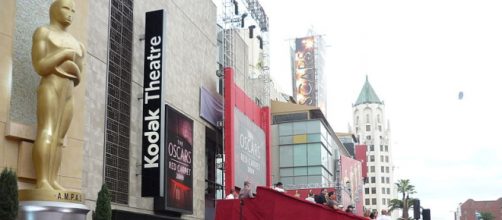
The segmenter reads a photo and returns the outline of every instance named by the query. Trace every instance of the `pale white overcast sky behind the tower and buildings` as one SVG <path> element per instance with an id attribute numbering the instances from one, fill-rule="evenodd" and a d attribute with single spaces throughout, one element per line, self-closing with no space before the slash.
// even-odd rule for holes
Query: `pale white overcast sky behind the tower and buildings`
<path id="1" fill-rule="evenodd" d="M 367 75 L 385 102 L 395 179 L 410 179 L 432 219 L 502 197 L 502 1 L 260 2 L 275 85 L 291 93 L 291 39 L 322 35 L 331 126 L 348 130 Z"/>

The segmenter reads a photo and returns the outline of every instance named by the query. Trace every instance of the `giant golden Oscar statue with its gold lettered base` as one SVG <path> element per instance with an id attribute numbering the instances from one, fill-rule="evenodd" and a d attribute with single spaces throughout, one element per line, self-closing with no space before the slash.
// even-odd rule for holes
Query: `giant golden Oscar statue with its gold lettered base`
<path id="1" fill-rule="evenodd" d="M 84 46 L 67 28 L 75 3 L 51 4 L 50 24 L 33 34 L 31 57 L 41 76 L 37 90 L 37 135 L 33 147 L 36 189 L 20 191 L 20 200 L 82 202 L 80 193 L 67 192 L 57 182 L 64 137 L 73 117 L 73 89 L 80 82 Z"/>

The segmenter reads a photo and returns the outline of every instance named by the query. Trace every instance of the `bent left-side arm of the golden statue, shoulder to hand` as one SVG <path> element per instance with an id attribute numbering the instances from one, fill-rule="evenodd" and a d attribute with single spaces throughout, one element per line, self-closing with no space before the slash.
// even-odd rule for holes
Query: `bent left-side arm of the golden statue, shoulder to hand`
<path id="1" fill-rule="evenodd" d="M 47 35 L 50 30 L 47 27 L 39 27 L 33 34 L 31 59 L 35 71 L 40 76 L 46 76 L 55 72 L 55 68 L 66 60 L 74 60 L 76 51 L 72 49 L 60 49 L 47 54 Z"/>

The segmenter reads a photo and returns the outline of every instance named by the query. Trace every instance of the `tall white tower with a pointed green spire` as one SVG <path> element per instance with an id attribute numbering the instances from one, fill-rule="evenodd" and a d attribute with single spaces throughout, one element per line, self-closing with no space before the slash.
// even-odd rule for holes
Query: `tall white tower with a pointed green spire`
<path id="1" fill-rule="evenodd" d="M 353 131 L 359 142 L 367 145 L 368 183 L 364 185 L 364 206 L 371 210 L 388 209 L 396 198 L 394 166 L 390 142 L 390 126 L 385 121 L 385 104 L 381 101 L 368 76 L 352 106 Z"/>

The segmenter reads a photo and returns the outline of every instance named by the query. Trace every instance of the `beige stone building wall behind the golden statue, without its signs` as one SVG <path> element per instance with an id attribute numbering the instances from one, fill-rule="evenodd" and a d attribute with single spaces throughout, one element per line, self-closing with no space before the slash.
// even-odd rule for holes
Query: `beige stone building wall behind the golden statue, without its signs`
<path id="1" fill-rule="evenodd" d="M 36 89 L 31 37 L 49 23 L 51 0 L 2 0 L 0 6 L 0 169 L 14 169 L 19 187 L 34 187 L 31 152 L 35 139 Z M 75 110 L 59 174 L 60 183 L 82 191 L 93 210 L 101 185 L 112 207 L 135 219 L 154 213 L 154 199 L 141 196 L 142 97 L 145 12 L 165 10 L 163 102 L 193 120 L 193 213 L 160 215 L 203 219 L 207 133 L 200 90 L 217 94 L 216 5 L 211 0 L 75 0 L 69 32 L 87 48 Z M 211 201 L 210 201 L 211 202 Z M 116 213 L 115 213 L 116 214 Z M 90 219 L 90 215 L 88 215 Z"/>

